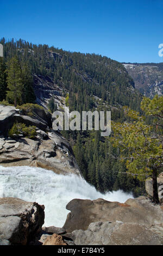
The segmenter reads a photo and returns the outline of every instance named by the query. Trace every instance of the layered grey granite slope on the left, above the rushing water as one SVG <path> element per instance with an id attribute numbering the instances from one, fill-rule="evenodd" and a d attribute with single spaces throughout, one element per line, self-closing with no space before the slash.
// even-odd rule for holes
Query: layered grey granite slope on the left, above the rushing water
<path id="1" fill-rule="evenodd" d="M 0 165 L 34 166 L 59 174 L 81 175 L 70 144 L 51 129 L 51 114 L 43 109 L 33 109 L 33 117 L 21 113 L 15 107 L 0 105 Z M 8 130 L 15 122 L 36 126 L 35 138 L 21 134 L 8 138 Z"/>

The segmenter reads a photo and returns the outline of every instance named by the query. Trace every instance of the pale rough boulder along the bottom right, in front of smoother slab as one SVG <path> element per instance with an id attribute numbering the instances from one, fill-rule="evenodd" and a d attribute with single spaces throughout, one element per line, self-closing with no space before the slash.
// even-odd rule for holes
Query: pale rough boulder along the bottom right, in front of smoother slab
<path id="1" fill-rule="evenodd" d="M 162 237 L 143 224 L 94 222 L 87 230 L 74 230 L 65 236 L 75 245 L 161 245 Z"/>

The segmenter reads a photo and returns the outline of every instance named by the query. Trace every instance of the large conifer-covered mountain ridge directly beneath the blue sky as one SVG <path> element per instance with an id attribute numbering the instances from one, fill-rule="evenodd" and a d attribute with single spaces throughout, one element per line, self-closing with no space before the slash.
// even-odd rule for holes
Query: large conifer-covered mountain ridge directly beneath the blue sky
<path id="1" fill-rule="evenodd" d="M 4 45 L 5 61 L 16 54 L 21 62 L 28 63 L 34 79 L 35 75 L 37 78 L 48 76 L 54 90 L 60 87 L 65 92 L 69 91 L 72 109 L 92 109 L 93 95 L 111 106 L 128 105 L 134 109 L 139 106 L 141 95 L 135 90 L 133 79 L 124 66 L 115 60 L 97 54 L 34 45 L 22 39 L 5 41 L 3 38 L 0 42 Z"/>

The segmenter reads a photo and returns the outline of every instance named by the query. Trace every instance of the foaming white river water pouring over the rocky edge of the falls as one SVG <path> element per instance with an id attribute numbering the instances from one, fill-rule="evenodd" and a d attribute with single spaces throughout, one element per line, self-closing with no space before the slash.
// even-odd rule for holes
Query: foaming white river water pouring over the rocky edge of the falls
<path id="1" fill-rule="evenodd" d="M 124 203 L 131 194 L 122 191 L 102 194 L 77 175 L 60 175 L 35 167 L 0 166 L 0 197 L 17 197 L 45 205 L 45 226 L 62 227 L 68 210 L 66 204 L 74 198 L 97 199 Z"/>

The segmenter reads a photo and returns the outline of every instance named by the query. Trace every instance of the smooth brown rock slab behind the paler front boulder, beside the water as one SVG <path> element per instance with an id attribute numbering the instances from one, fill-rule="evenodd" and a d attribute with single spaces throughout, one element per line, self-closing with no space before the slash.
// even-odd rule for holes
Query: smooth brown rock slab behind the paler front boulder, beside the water
<path id="1" fill-rule="evenodd" d="M 92 222 L 132 222 L 143 224 L 147 228 L 155 227 L 163 232 L 163 212 L 160 205 L 153 205 L 147 197 L 128 199 L 124 204 L 104 199 L 73 199 L 67 206 L 71 212 L 67 215 L 63 228 L 67 233 L 73 230 L 87 230 Z M 163 233 L 162 233 L 163 234 Z"/>

